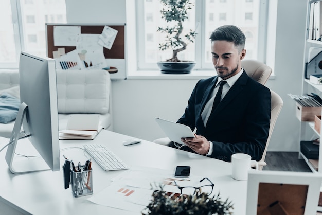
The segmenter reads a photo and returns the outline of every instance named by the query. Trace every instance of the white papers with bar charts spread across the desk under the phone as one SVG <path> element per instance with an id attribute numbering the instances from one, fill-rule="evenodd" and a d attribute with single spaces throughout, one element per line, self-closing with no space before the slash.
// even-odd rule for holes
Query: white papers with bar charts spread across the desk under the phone
<path id="1" fill-rule="evenodd" d="M 174 181 L 180 186 L 198 186 L 200 179 L 201 176 L 195 175 L 174 178 L 173 172 L 157 168 L 131 169 L 113 178 L 109 187 L 88 200 L 99 205 L 140 212 L 149 204 L 153 190 L 160 190 L 160 186 L 168 196 L 178 199 L 181 191 Z"/>

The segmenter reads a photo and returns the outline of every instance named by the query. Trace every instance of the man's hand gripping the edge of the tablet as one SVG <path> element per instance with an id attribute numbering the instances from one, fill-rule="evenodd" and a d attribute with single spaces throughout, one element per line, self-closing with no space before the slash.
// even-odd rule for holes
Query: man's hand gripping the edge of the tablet
<path id="1" fill-rule="evenodd" d="M 196 134 L 194 134 L 194 136 L 195 138 L 181 138 L 181 141 L 183 141 L 189 148 L 191 148 L 196 153 L 201 155 L 207 154 L 209 152 L 210 144 L 206 137 Z"/>

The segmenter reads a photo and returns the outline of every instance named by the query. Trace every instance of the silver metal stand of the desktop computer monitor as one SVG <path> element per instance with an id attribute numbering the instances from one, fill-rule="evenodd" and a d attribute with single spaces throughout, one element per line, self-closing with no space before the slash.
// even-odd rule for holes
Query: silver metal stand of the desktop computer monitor
<path id="1" fill-rule="evenodd" d="M 28 111 L 27 104 L 24 102 L 21 103 L 17 117 L 14 122 L 13 130 L 9 141 L 10 144 L 8 146 L 7 153 L 6 153 L 6 162 L 9 166 L 10 171 L 13 174 L 50 170 L 49 166 L 42 158 L 16 160 L 16 157 L 14 156 L 18 140 L 29 136 L 24 132 L 21 132 L 22 122 L 26 117 L 27 111 Z"/>

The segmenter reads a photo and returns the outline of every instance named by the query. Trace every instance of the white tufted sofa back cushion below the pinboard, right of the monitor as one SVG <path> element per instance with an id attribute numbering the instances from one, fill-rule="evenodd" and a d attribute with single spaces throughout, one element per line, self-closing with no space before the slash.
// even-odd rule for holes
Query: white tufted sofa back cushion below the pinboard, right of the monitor
<path id="1" fill-rule="evenodd" d="M 106 114 L 110 87 L 106 70 L 57 70 L 58 113 Z"/>

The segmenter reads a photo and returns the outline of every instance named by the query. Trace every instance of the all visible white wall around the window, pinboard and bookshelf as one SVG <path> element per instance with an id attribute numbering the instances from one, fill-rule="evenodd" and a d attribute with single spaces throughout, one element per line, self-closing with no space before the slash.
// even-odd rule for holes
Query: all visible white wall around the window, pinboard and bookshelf
<path id="1" fill-rule="evenodd" d="M 272 0 L 277 1 L 277 0 Z M 95 2 L 95 4 L 93 3 Z M 68 23 L 125 23 L 126 0 L 68 0 Z M 275 79 L 266 86 L 284 100 L 270 151 L 298 151 L 299 121 L 287 94 L 301 93 L 306 0 L 277 2 Z M 290 7 L 292 6 L 292 7 Z M 131 52 L 131 55 L 135 53 Z M 131 57 L 128 53 L 128 58 Z M 128 69 L 133 66 L 128 65 Z M 216 73 L 214 73 L 215 75 Z M 164 137 L 155 117 L 177 120 L 198 80 L 127 79 L 112 81 L 114 131 L 146 140 Z"/>

